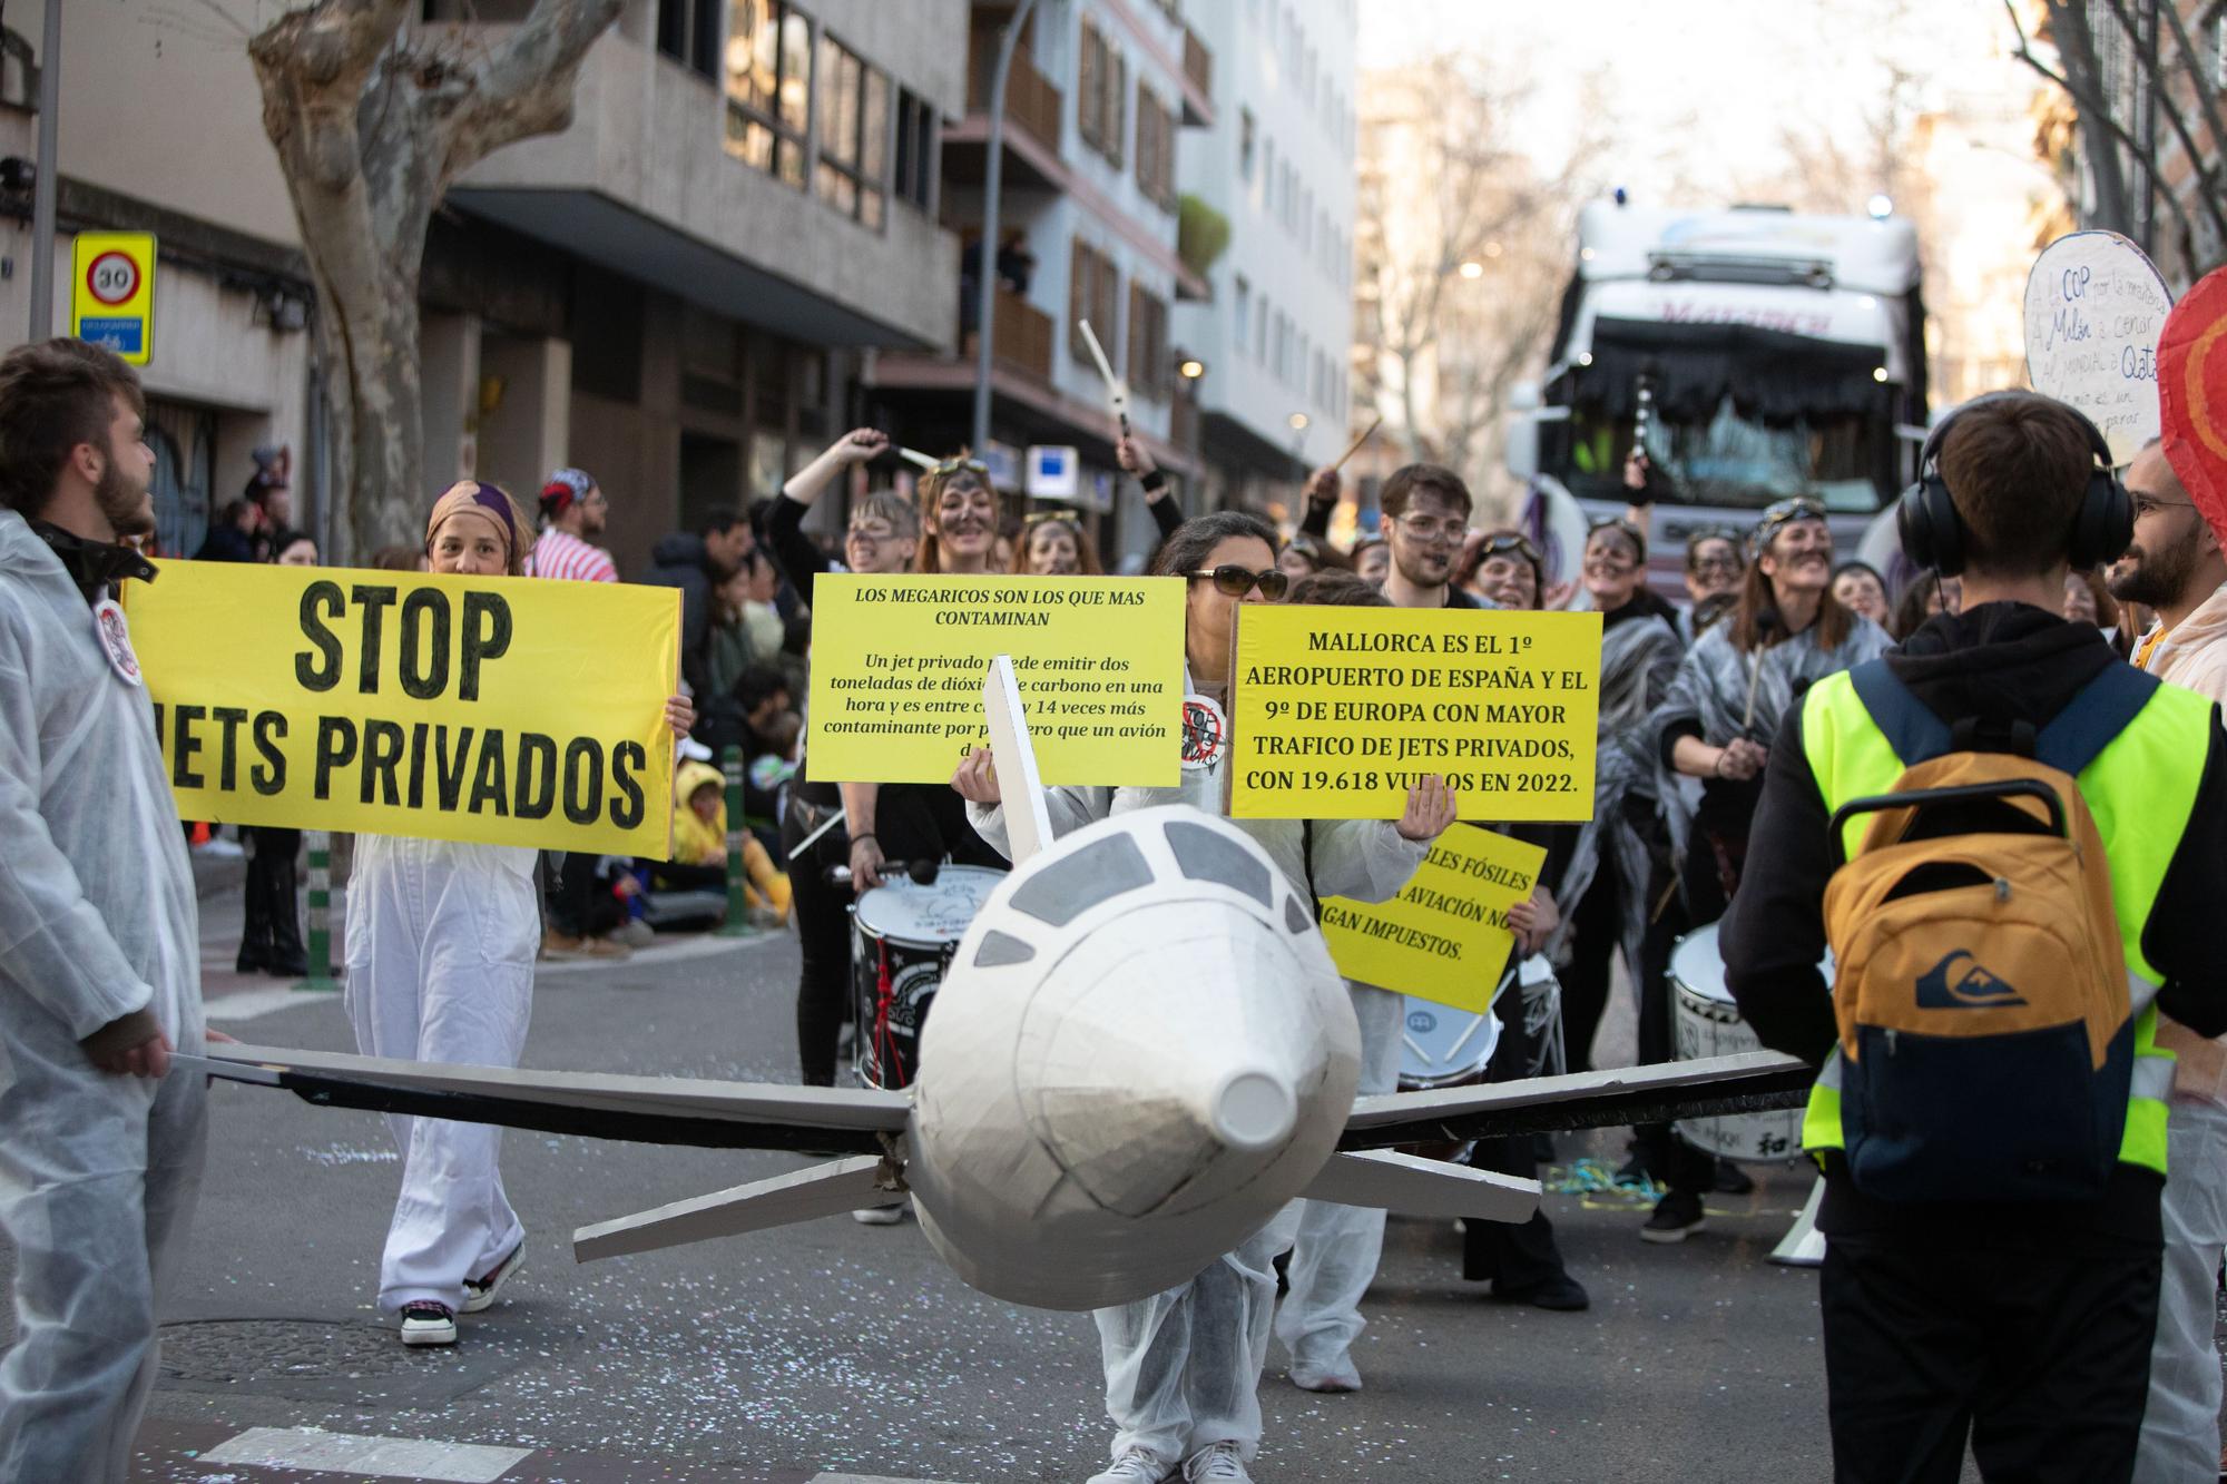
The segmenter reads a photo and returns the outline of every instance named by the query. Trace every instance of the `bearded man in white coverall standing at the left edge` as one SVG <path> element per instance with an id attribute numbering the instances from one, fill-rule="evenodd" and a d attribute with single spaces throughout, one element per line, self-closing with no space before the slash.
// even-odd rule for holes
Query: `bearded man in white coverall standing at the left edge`
<path id="1" fill-rule="evenodd" d="M 194 869 L 114 606 L 151 568 L 138 379 L 82 341 L 0 359 L 0 1480 L 122 1484 L 200 1185 Z"/>

